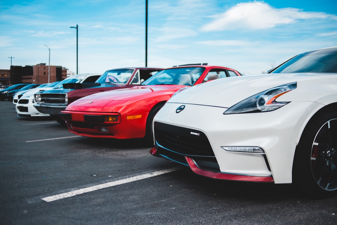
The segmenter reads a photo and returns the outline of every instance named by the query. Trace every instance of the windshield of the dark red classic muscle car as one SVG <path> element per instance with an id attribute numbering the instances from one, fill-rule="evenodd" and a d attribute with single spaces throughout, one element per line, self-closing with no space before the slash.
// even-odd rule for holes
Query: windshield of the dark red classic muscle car
<path id="1" fill-rule="evenodd" d="M 106 71 L 95 83 L 126 84 L 134 69 L 114 69 Z"/>

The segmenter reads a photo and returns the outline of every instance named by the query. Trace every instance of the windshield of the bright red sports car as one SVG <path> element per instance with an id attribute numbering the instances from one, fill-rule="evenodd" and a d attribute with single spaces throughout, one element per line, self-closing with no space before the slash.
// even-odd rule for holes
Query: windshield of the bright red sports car
<path id="1" fill-rule="evenodd" d="M 192 86 L 204 71 L 204 67 L 164 69 L 144 81 L 141 85 L 175 84 Z"/>

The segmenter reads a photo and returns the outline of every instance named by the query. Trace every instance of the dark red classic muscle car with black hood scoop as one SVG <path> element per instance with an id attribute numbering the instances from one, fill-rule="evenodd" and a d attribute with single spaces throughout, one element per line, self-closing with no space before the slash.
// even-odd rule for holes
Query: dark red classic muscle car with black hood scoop
<path id="1" fill-rule="evenodd" d="M 94 84 L 69 84 L 62 92 L 50 90 L 43 91 L 37 96 L 34 105 L 41 113 L 52 115 L 58 122 L 64 121 L 59 117 L 59 112 L 65 110 L 67 105 L 81 97 L 120 88 L 132 87 L 141 84 L 150 78 L 152 73 L 162 68 L 150 67 L 130 67 L 120 69 L 110 69 L 106 71 Z"/>

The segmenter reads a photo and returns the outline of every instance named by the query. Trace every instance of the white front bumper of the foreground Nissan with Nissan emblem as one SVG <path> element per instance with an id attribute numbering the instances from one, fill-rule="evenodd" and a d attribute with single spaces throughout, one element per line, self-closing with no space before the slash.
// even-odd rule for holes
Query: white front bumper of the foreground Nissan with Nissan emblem
<path id="1" fill-rule="evenodd" d="M 184 104 L 185 109 L 176 113 L 181 105 L 166 103 L 155 116 L 154 124 L 164 123 L 190 130 L 190 136 L 194 138 L 198 137 L 195 134 L 202 136 L 204 133 L 213 151 L 214 160 L 198 159 L 200 156 L 210 156 L 193 153 L 194 147 L 191 147 L 191 151 L 184 152 L 174 145 L 161 142 L 156 137 L 156 125 L 154 135 L 157 145 L 152 150 L 154 155 L 188 165 L 192 170 L 195 168 L 194 164 L 198 169 L 208 171 L 201 175 L 213 178 L 217 177 L 209 172 L 234 175 L 239 180 L 249 181 L 249 177 L 255 177 L 250 181 L 275 183 L 292 182 L 296 145 L 307 121 L 314 112 L 323 107 L 312 102 L 292 102 L 272 112 L 224 115 L 226 108 Z M 226 151 L 222 148 L 226 146 L 256 146 L 262 148 L 264 153 Z M 202 163 L 198 163 L 198 160 Z M 207 161 L 216 162 L 218 169 Z M 224 179 L 236 178 L 227 176 Z"/>

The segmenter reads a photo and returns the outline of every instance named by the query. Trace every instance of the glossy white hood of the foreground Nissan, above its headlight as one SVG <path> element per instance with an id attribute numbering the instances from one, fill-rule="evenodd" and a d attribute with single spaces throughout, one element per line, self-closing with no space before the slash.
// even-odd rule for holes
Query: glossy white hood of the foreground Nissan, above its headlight
<path id="1" fill-rule="evenodd" d="M 337 91 L 337 74 L 298 73 L 263 74 L 222 78 L 178 91 L 168 103 L 196 104 L 229 108 L 240 101 L 280 85 L 297 82 L 297 88 L 278 101 L 316 101 L 320 96 Z M 324 103 L 322 103 L 324 104 Z"/>

